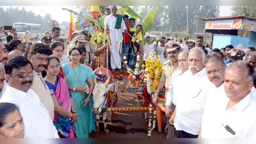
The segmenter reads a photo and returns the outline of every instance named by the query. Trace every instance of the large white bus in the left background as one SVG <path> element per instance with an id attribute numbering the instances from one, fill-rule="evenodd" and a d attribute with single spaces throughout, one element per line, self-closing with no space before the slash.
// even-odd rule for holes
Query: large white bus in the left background
<path id="1" fill-rule="evenodd" d="M 12 27 L 17 29 L 18 37 L 24 33 L 29 33 L 34 38 L 42 36 L 41 24 L 15 23 Z"/>

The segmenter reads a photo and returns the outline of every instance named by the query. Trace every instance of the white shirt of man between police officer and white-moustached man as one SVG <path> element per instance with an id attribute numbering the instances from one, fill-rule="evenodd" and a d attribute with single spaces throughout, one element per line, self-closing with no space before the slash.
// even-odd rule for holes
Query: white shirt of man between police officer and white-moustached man
<path id="1" fill-rule="evenodd" d="M 172 74 L 172 79 L 171 82 L 169 84 L 169 91 L 168 91 L 168 95 L 166 97 L 166 104 L 168 106 L 172 105 L 172 102 L 174 104 L 174 98 L 173 98 L 173 84 L 175 83 L 175 81 L 178 79 L 179 76 L 182 76 L 183 72 L 182 70 L 178 70 L 176 72 L 174 72 Z M 177 105 L 177 98 L 175 99 L 175 106 Z"/>

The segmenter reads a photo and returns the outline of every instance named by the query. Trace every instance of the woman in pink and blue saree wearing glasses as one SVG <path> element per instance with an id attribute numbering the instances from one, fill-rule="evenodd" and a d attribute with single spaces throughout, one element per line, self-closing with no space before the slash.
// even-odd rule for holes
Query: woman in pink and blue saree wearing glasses
<path id="1" fill-rule="evenodd" d="M 58 76 L 60 61 L 56 56 L 49 56 L 45 71 L 44 81 L 54 102 L 53 124 L 58 128 L 60 138 L 76 138 L 73 127 L 73 122 L 77 120 L 76 108 L 66 81 Z"/>

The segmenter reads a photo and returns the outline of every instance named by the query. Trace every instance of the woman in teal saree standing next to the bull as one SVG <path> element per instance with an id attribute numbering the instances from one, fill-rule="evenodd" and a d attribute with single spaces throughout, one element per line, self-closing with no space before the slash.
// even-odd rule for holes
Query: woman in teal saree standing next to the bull
<path id="1" fill-rule="evenodd" d="M 69 51 L 70 63 L 62 67 L 67 76 L 67 84 L 74 100 L 78 120 L 74 124 L 77 138 L 89 138 L 89 133 L 95 131 L 95 115 L 92 113 L 93 77 L 92 68 L 79 63 L 82 52 L 76 47 Z M 89 85 L 89 90 L 86 88 Z M 87 94 L 88 93 L 88 94 Z"/>

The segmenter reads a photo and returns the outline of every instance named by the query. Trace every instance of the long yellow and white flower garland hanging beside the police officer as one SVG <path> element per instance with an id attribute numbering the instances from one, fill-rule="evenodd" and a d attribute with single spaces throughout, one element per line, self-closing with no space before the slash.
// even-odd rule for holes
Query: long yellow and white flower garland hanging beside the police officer
<path id="1" fill-rule="evenodd" d="M 147 81 L 147 92 L 150 93 L 152 99 L 154 99 L 154 94 L 156 92 L 156 88 L 162 73 L 162 65 L 160 58 L 157 58 L 157 54 L 153 50 L 149 52 L 148 59 L 145 63 L 146 77 L 144 81 Z M 148 109 L 148 138 L 150 138 L 152 130 L 156 127 L 156 110 L 154 110 L 154 116 L 152 116 L 152 104 L 150 104 L 149 106 L 150 108 Z M 152 121 L 153 123 L 151 123 Z"/>

